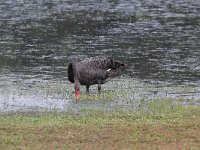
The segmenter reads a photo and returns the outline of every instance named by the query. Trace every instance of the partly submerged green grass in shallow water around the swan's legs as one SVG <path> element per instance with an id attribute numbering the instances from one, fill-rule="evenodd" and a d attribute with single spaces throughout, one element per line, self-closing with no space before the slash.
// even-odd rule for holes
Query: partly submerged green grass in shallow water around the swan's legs
<path id="1" fill-rule="evenodd" d="M 28 90 L 41 99 L 62 99 L 72 101 L 75 99 L 74 85 L 69 82 L 51 81 L 44 85 L 35 85 Z M 141 99 L 178 99 L 179 103 L 199 104 L 199 87 L 193 86 L 167 86 L 142 82 L 137 79 L 119 77 L 102 85 L 101 95 L 98 95 L 97 86 L 90 87 L 90 94 L 86 94 L 85 86 L 81 86 L 80 100 L 85 103 L 116 103 L 136 108 Z M 25 94 L 28 93 L 27 90 Z M 30 95 L 30 93 L 28 93 Z M 98 106 L 98 105 L 96 105 Z M 107 105 L 108 107 L 110 105 Z M 112 105 L 113 106 L 113 105 Z M 112 108 L 111 108 L 112 109 Z"/>

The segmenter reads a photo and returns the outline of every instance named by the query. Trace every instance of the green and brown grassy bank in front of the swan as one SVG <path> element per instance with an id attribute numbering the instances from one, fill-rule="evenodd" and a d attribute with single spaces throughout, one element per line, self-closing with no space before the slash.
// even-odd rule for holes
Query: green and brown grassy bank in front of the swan
<path id="1" fill-rule="evenodd" d="M 138 110 L 0 116 L 0 149 L 199 149 L 200 106 L 173 100 Z"/>

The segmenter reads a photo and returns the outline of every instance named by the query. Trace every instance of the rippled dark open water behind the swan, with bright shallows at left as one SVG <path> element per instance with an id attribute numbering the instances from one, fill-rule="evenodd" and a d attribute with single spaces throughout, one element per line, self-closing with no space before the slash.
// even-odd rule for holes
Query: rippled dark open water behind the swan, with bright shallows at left
<path id="1" fill-rule="evenodd" d="M 44 101 L 44 108 L 52 106 L 32 96 L 48 82 L 67 82 L 69 58 L 102 54 L 127 63 L 131 82 L 194 87 L 189 95 L 198 98 L 200 1 L 0 1 L 2 109 L 14 108 L 13 100 L 19 109 L 30 101 L 33 109 Z M 39 90 L 30 94 L 32 87 Z M 55 98 L 55 107 L 68 105 L 68 98 Z"/>

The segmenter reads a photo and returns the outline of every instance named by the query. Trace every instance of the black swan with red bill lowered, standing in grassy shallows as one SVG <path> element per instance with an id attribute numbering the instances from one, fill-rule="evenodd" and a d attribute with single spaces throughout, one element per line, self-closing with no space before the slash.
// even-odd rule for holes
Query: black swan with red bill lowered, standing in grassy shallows
<path id="1" fill-rule="evenodd" d="M 68 67 L 68 79 L 75 84 L 76 100 L 80 99 L 80 85 L 86 86 L 89 94 L 90 85 L 98 84 L 98 92 L 101 92 L 101 84 L 114 78 L 125 69 L 126 65 L 106 56 L 86 58 L 80 62 L 72 59 Z"/>

